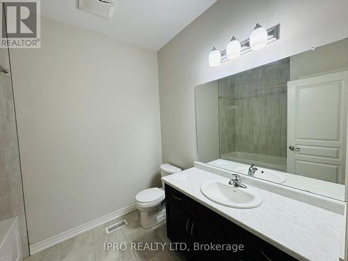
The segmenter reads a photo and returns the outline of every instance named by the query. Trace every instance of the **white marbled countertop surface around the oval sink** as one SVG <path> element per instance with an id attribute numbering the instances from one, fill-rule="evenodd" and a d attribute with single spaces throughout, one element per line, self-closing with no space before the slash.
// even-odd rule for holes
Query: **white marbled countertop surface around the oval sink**
<path id="1" fill-rule="evenodd" d="M 199 168 L 189 168 L 163 177 L 162 181 L 294 258 L 336 261 L 343 256 L 341 244 L 345 216 L 342 214 L 260 188 L 254 188 L 262 196 L 260 207 L 224 207 L 208 200 L 200 192 L 200 184 L 213 179 L 229 180 Z"/>

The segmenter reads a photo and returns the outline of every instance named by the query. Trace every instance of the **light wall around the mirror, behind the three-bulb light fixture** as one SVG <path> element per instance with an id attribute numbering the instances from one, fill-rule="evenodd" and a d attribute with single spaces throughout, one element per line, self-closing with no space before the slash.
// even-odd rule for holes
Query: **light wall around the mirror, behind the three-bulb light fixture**
<path id="1" fill-rule="evenodd" d="M 196 153 L 194 87 L 280 58 L 347 38 L 348 1 L 218 0 L 158 54 L 163 159 L 183 168 Z M 235 35 L 248 38 L 255 24 L 280 23 L 280 40 L 235 61 L 210 68 L 215 45 L 225 49 Z"/>

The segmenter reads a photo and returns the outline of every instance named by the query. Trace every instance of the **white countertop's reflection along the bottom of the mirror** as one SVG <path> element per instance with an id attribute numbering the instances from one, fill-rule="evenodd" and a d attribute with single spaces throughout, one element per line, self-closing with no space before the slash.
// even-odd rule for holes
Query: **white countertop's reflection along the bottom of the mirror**
<path id="1" fill-rule="evenodd" d="M 242 164 L 235 161 L 228 161 L 226 159 L 216 159 L 207 163 L 218 168 L 223 168 L 228 171 L 233 171 L 239 167 L 249 167 L 250 165 Z M 280 172 L 285 175 L 286 182 L 283 185 L 293 187 L 296 189 L 302 189 L 304 191 L 310 191 L 318 195 L 326 196 L 329 198 L 335 198 L 341 201 L 345 200 L 345 185 L 336 184 L 333 182 L 327 182 L 324 180 L 317 180 L 310 177 L 303 177 L 291 173 Z"/>

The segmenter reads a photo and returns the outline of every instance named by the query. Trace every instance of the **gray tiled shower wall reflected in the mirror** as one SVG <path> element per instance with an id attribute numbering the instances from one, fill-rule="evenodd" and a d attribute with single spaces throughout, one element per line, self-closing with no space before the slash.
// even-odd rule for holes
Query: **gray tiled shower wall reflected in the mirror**
<path id="1" fill-rule="evenodd" d="M 289 79 L 290 58 L 285 58 L 218 80 L 220 155 L 286 157 Z"/>

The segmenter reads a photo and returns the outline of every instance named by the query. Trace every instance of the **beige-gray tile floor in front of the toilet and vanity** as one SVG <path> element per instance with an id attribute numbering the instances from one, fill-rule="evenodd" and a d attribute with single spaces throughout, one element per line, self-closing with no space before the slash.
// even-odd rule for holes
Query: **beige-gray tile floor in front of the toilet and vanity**
<path id="1" fill-rule="evenodd" d="M 106 234 L 105 228 L 117 221 L 127 219 L 128 225 Z M 125 251 L 105 251 L 104 242 L 125 242 L 128 247 Z M 130 244 L 135 243 L 167 243 L 166 223 L 162 222 L 155 228 L 145 230 L 140 226 L 139 212 L 136 210 L 118 219 L 110 221 L 93 230 L 84 232 L 77 237 L 68 239 L 61 244 L 52 246 L 40 253 L 25 258 L 24 261 L 184 261 L 182 254 L 169 251 L 167 247 L 158 250 L 134 250 Z"/>

